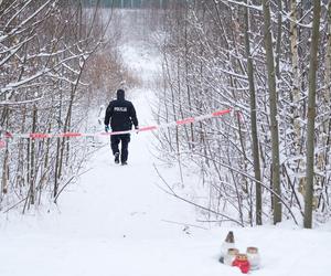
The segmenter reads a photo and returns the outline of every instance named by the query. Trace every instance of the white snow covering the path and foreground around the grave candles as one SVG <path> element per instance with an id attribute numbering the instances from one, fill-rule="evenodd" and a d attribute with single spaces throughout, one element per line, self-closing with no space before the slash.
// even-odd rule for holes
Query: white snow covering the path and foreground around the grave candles
<path id="1" fill-rule="evenodd" d="M 158 59 L 143 47 L 128 44 L 122 51 L 125 61 L 145 78 L 158 71 Z M 131 95 L 141 125 L 152 123 L 152 92 L 140 87 Z M 229 230 L 242 252 L 249 245 L 260 250 L 263 267 L 252 275 L 330 275 L 330 226 L 314 231 L 286 223 L 254 229 L 197 227 L 201 224 L 195 222 L 193 208 L 158 188 L 152 139 L 151 134 L 132 136 L 128 167 L 115 166 L 109 147 L 102 148 L 87 164 L 90 170 L 65 192 L 55 211 L 21 219 L 1 214 L 0 275 L 242 275 L 217 262 Z M 104 142 L 107 145 L 106 138 Z M 163 173 L 175 181 L 172 169 L 163 169 Z"/>

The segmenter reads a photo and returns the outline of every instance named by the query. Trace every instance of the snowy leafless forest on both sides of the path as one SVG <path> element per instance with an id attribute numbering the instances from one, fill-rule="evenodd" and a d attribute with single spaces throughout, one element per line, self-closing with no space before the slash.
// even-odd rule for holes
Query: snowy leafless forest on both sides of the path
<path id="1" fill-rule="evenodd" d="M 135 86 L 116 18 L 146 1 L 110 2 L 0 1 L 0 212 L 56 202 L 94 145 L 10 134 L 95 131 L 86 114 L 124 81 Z M 329 221 L 331 1 L 149 2 L 140 17 L 162 56 L 157 123 L 232 110 L 156 134 L 180 181 L 201 180 L 190 201 L 203 220 Z"/>

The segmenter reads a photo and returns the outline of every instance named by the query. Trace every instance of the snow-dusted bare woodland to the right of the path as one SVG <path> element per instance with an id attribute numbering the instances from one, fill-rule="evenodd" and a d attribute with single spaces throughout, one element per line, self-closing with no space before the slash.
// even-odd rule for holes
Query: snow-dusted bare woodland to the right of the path
<path id="1" fill-rule="evenodd" d="M 210 221 L 330 217 L 330 1 L 188 1 L 164 12 L 160 151 L 202 179 Z M 192 167 L 192 162 L 194 166 Z"/>

